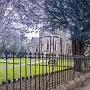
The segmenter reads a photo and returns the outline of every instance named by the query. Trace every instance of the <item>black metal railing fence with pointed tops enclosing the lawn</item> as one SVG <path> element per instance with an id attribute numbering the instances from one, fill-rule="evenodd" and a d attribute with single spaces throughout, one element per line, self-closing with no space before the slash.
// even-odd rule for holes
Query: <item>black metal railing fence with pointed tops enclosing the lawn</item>
<path id="1" fill-rule="evenodd" d="M 82 57 L 82 59 L 80 59 Z M 75 60 L 90 70 L 90 57 L 44 53 L 0 54 L 0 90 L 49 90 L 77 77 Z"/>

